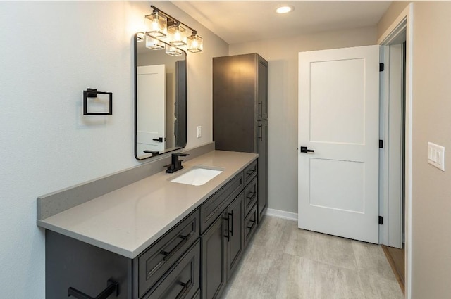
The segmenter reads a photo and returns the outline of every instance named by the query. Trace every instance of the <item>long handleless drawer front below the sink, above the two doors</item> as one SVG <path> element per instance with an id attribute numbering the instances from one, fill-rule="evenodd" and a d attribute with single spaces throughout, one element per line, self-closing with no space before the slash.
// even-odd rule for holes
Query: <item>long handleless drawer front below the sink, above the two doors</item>
<path id="1" fill-rule="evenodd" d="M 200 206 L 201 233 L 213 224 L 223 210 L 240 194 L 244 188 L 243 173 L 240 172 L 226 185 L 214 193 Z"/>

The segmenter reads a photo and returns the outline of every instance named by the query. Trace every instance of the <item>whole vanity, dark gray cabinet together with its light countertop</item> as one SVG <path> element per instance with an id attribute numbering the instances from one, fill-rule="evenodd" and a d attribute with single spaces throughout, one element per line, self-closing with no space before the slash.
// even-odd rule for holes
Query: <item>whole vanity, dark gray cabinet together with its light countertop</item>
<path id="1" fill-rule="evenodd" d="M 183 165 L 37 220 L 46 298 L 219 298 L 257 229 L 257 155 L 210 151 Z M 171 182 L 193 167 L 222 172 Z"/>

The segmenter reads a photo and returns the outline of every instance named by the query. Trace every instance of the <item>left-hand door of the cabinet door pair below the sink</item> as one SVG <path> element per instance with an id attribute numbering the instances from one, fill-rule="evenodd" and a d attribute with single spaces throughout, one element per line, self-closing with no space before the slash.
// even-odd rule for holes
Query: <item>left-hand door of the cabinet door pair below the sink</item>
<path id="1" fill-rule="evenodd" d="M 202 236 L 202 299 L 219 298 L 226 285 L 227 212 Z"/>

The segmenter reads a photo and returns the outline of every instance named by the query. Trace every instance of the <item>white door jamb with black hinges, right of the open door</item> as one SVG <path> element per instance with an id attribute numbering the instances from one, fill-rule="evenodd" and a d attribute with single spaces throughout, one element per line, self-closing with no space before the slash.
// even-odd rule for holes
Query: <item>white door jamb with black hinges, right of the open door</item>
<path id="1" fill-rule="evenodd" d="M 380 61 L 384 64 L 380 79 L 379 139 L 379 243 L 402 248 L 402 179 L 404 146 L 404 45 L 405 27 L 400 40 L 380 46 Z"/>

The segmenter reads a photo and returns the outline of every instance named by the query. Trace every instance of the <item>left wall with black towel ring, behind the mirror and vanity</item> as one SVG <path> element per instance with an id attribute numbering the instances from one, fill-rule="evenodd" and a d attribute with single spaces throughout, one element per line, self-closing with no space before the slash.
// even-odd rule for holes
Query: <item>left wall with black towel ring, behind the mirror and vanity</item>
<path id="1" fill-rule="evenodd" d="M 188 56 L 188 145 L 211 141 L 211 58 L 228 44 L 170 2 L 205 51 Z M 0 298 L 44 298 L 36 198 L 138 165 L 132 37 L 149 2 L 0 1 Z M 82 116 L 82 91 L 113 92 L 113 115 Z M 201 139 L 195 127 L 202 125 Z"/>

